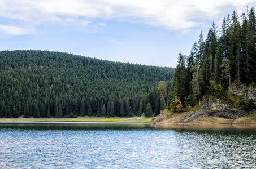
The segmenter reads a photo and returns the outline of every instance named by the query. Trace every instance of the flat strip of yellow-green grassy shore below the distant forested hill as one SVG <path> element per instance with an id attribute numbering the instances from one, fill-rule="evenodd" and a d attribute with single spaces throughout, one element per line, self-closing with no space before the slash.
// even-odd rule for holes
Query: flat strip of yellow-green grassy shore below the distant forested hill
<path id="1" fill-rule="evenodd" d="M 152 117 L 77 117 L 77 118 L 0 118 L 0 122 L 114 122 L 114 121 L 151 121 Z"/>

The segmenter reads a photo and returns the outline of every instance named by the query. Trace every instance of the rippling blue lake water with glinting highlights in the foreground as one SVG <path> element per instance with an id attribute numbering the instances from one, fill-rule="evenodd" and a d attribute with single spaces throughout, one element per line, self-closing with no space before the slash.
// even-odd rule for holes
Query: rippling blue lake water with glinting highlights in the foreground
<path id="1" fill-rule="evenodd" d="M 256 128 L 0 124 L 0 168 L 256 168 Z"/>

